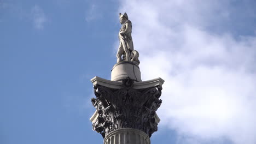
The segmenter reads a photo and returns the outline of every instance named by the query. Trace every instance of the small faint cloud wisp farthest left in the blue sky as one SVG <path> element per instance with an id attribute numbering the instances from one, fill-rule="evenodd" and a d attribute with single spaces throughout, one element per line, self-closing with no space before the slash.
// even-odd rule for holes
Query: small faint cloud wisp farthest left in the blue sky
<path id="1" fill-rule="evenodd" d="M 34 7 L 31 8 L 31 15 L 34 28 L 43 29 L 44 23 L 47 21 L 43 9 L 38 5 L 34 5 Z"/>

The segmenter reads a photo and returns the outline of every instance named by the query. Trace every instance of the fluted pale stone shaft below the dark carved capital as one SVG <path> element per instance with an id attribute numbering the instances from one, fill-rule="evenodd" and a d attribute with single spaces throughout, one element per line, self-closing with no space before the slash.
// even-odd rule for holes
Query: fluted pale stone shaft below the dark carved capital
<path id="1" fill-rule="evenodd" d="M 141 130 L 122 128 L 112 131 L 104 144 L 150 144 L 149 136 Z"/>

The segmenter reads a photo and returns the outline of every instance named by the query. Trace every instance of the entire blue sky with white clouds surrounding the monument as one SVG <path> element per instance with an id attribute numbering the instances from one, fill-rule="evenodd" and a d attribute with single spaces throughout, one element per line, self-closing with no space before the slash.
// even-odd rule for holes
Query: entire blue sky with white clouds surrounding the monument
<path id="1" fill-rule="evenodd" d="M 124 12 L 142 79 L 166 81 L 152 143 L 256 143 L 255 7 L 0 0 L 0 143 L 102 143 L 90 79 L 110 79 Z"/>

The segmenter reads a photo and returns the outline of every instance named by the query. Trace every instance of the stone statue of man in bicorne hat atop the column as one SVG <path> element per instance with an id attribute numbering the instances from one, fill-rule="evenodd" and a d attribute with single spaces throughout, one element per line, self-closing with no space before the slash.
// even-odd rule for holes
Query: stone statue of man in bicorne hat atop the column
<path id="1" fill-rule="evenodd" d="M 121 61 L 132 61 L 138 65 L 138 52 L 133 49 L 133 42 L 131 37 L 132 23 L 128 19 L 126 13 L 124 13 L 124 15 L 119 14 L 119 19 L 122 26 L 119 31 L 120 43 L 117 52 L 117 63 Z"/>

